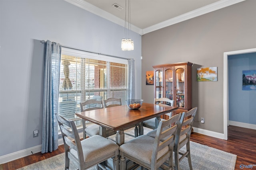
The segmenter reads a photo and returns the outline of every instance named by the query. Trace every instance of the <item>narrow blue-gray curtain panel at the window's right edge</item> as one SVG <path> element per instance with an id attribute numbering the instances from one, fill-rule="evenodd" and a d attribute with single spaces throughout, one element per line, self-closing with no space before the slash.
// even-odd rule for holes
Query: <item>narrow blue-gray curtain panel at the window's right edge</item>
<path id="1" fill-rule="evenodd" d="M 128 60 L 128 99 L 135 99 L 134 59 Z"/>

